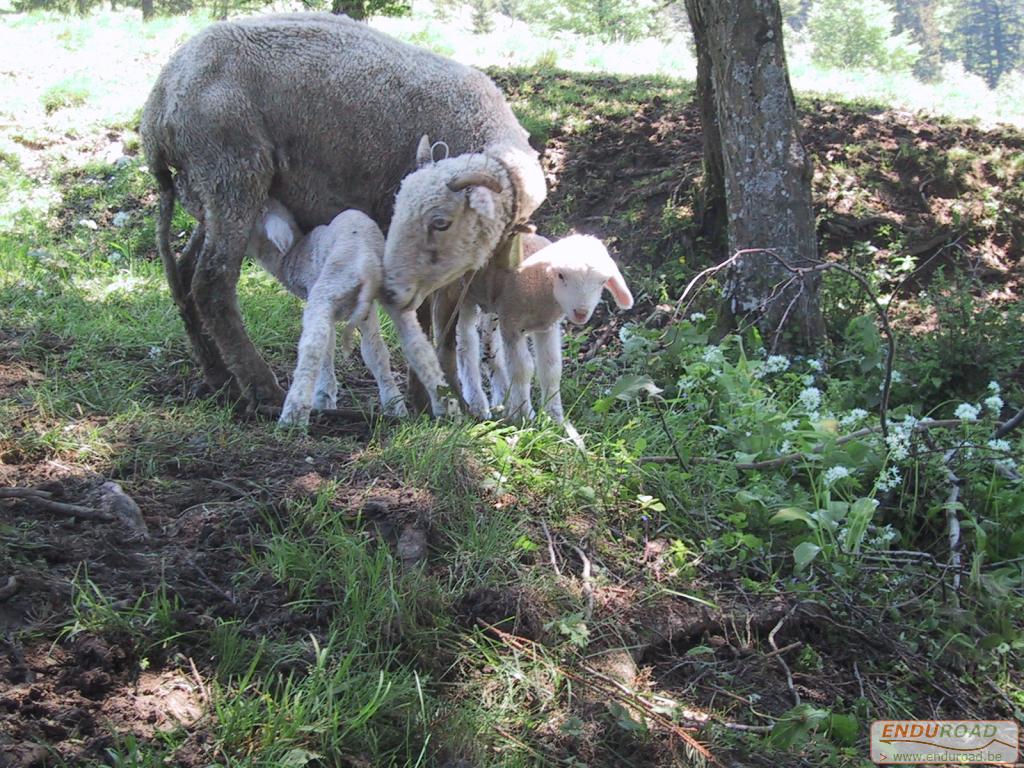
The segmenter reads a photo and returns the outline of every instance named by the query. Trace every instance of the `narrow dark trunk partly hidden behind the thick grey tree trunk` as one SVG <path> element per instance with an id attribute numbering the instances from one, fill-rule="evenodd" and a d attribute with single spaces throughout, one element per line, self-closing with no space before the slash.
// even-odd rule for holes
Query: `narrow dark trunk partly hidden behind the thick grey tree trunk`
<path id="1" fill-rule="evenodd" d="M 703 134 L 703 181 L 697 194 L 697 229 L 707 238 L 716 258 L 724 260 L 726 252 L 725 169 L 722 163 L 722 138 L 718 130 L 715 106 L 715 85 L 711 77 L 711 48 L 707 28 L 696 0 L 686 0 L 686 14 L 693 30 L 697 49 L 697 104 L 700 109 L 700 129 Z"/>

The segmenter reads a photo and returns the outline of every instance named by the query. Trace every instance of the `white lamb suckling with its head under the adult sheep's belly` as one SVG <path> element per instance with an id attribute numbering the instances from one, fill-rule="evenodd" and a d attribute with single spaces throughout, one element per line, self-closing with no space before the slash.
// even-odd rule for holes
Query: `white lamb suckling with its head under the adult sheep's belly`
<path id="1" fill-rule="evenodd" d="M 351 349 L 353 326 L 357 326 L 359 350 L 377 382 L 385 412 L 404 416 L 406 403 L 391 373 L 374 307 L 383 278 L 384 236 L 373 219 L 359 211 L 343 211 L 330 224 L 302 237 L 291 212 L 271 198 L 253 226 L 246 252 L 289 291 L 306 300 L 299 359 L 281 423 L 304 425 L 312 409 L 337 406 L 334 355 L 338 321 L 345 322 L 343 353 Z M 431 370 L 425 378 L 439 377 L 440 368 L 415 313 L 393 311 L 391 316 L 407 354 L 412 351 L 411 357 L 426 360 L 421 365 L 411 360 L 414 369 L 419 372 L 426 365 Z"/>

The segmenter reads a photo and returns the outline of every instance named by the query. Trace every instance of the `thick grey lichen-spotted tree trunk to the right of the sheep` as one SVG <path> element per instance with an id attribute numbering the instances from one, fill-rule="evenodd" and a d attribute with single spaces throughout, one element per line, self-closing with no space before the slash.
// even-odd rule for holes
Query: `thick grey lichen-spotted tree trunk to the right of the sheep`
<path id="1" fill-rule="evenodd" d="M 730 269 L 721 316 L 733 329 L 755 324 L 772 349 L 813 351 L 824 337 L 820 278 L 793 271 L 817 263 L 812 166 L 800 139 L 778 0 L 687 4 L 711 60 L 729 252 L 752 251 Z"/>

